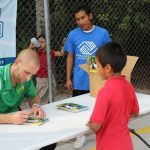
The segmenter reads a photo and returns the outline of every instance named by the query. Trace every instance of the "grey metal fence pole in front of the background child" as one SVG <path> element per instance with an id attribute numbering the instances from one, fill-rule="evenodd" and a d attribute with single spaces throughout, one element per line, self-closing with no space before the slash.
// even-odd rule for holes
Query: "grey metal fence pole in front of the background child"
<path id="1" fill-rule="evenodd" d="M 48 87 L 49 87 L 49 100 L 52 102 L 52 72 L 51 72 L 51 28 L 50 28 L 50 17 L 49 17 L 49 0 L 44 0 L 44 20 L 45 20 L 45 38 L 46 38 L 46 52 L 47 52 L 47 65 L 48 65 Z"/>

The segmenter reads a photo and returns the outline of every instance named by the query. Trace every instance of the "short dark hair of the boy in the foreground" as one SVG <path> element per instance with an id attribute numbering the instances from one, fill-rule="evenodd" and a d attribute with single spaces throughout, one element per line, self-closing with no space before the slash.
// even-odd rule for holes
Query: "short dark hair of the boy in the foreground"
<path id="1" fill-rule="evenodd" d="M 96 51 L 96 57 L 103 67 L 110 64 L 114 73 L 122 71 L 126 65 L 127 56 L 122 47 L 109 42 Z"/>

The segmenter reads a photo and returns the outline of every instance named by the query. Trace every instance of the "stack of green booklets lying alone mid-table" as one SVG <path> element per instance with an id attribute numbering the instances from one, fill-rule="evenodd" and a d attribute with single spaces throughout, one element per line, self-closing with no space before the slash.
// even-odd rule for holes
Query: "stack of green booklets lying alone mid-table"
<path id="1" fill-rule="evenodd" d="M 56 105 L 58 109 L 67 110 L 71 112 L 80 112 L 88 109 L 88 106 L 76 104 L 76 103 L 62 103 Z"/>

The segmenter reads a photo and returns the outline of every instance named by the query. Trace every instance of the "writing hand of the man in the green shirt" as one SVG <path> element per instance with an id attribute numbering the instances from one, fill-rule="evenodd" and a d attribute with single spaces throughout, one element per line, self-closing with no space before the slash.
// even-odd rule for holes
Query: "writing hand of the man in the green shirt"
<path id="1" fill-rule="evenodd" d="M 27 122 L 29 113 L 25 111 L 18 111 L 12 114 L 12 123 L 13 124 L 24 124 Z"/>

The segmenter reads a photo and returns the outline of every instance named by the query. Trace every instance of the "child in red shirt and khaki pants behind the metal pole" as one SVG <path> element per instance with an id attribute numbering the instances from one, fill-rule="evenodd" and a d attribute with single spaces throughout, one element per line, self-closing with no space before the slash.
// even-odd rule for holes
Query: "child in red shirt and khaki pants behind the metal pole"
<path id="1" fill-rule="evenodd" d="M 40 69 L 36 74 L 36 90 L 37 95 L 42 100 L 42 104 L 48 103 L 48 69 L 47 69 L 47 55 L 46 55 L 46 40 L 45 35 L 39 35 L 37 38 L 40 43 L 40 47 L 38 48 L 38 55 L 40 57 Z M 65 42 L 65 38 L 63 40 L 63 44 Z M 51 62 L 52 65 L 54 63 L 55 57 L 60 57 L 64 55 L 63 47 L 61 51 L 51 50 Z M 52 71 L 53 73 L 53 71 Z M 53 92 L 55 92 L 56 81 L 54 78 L 54 74 L 52 74 L 52 83 L 53 83 Z"/>

